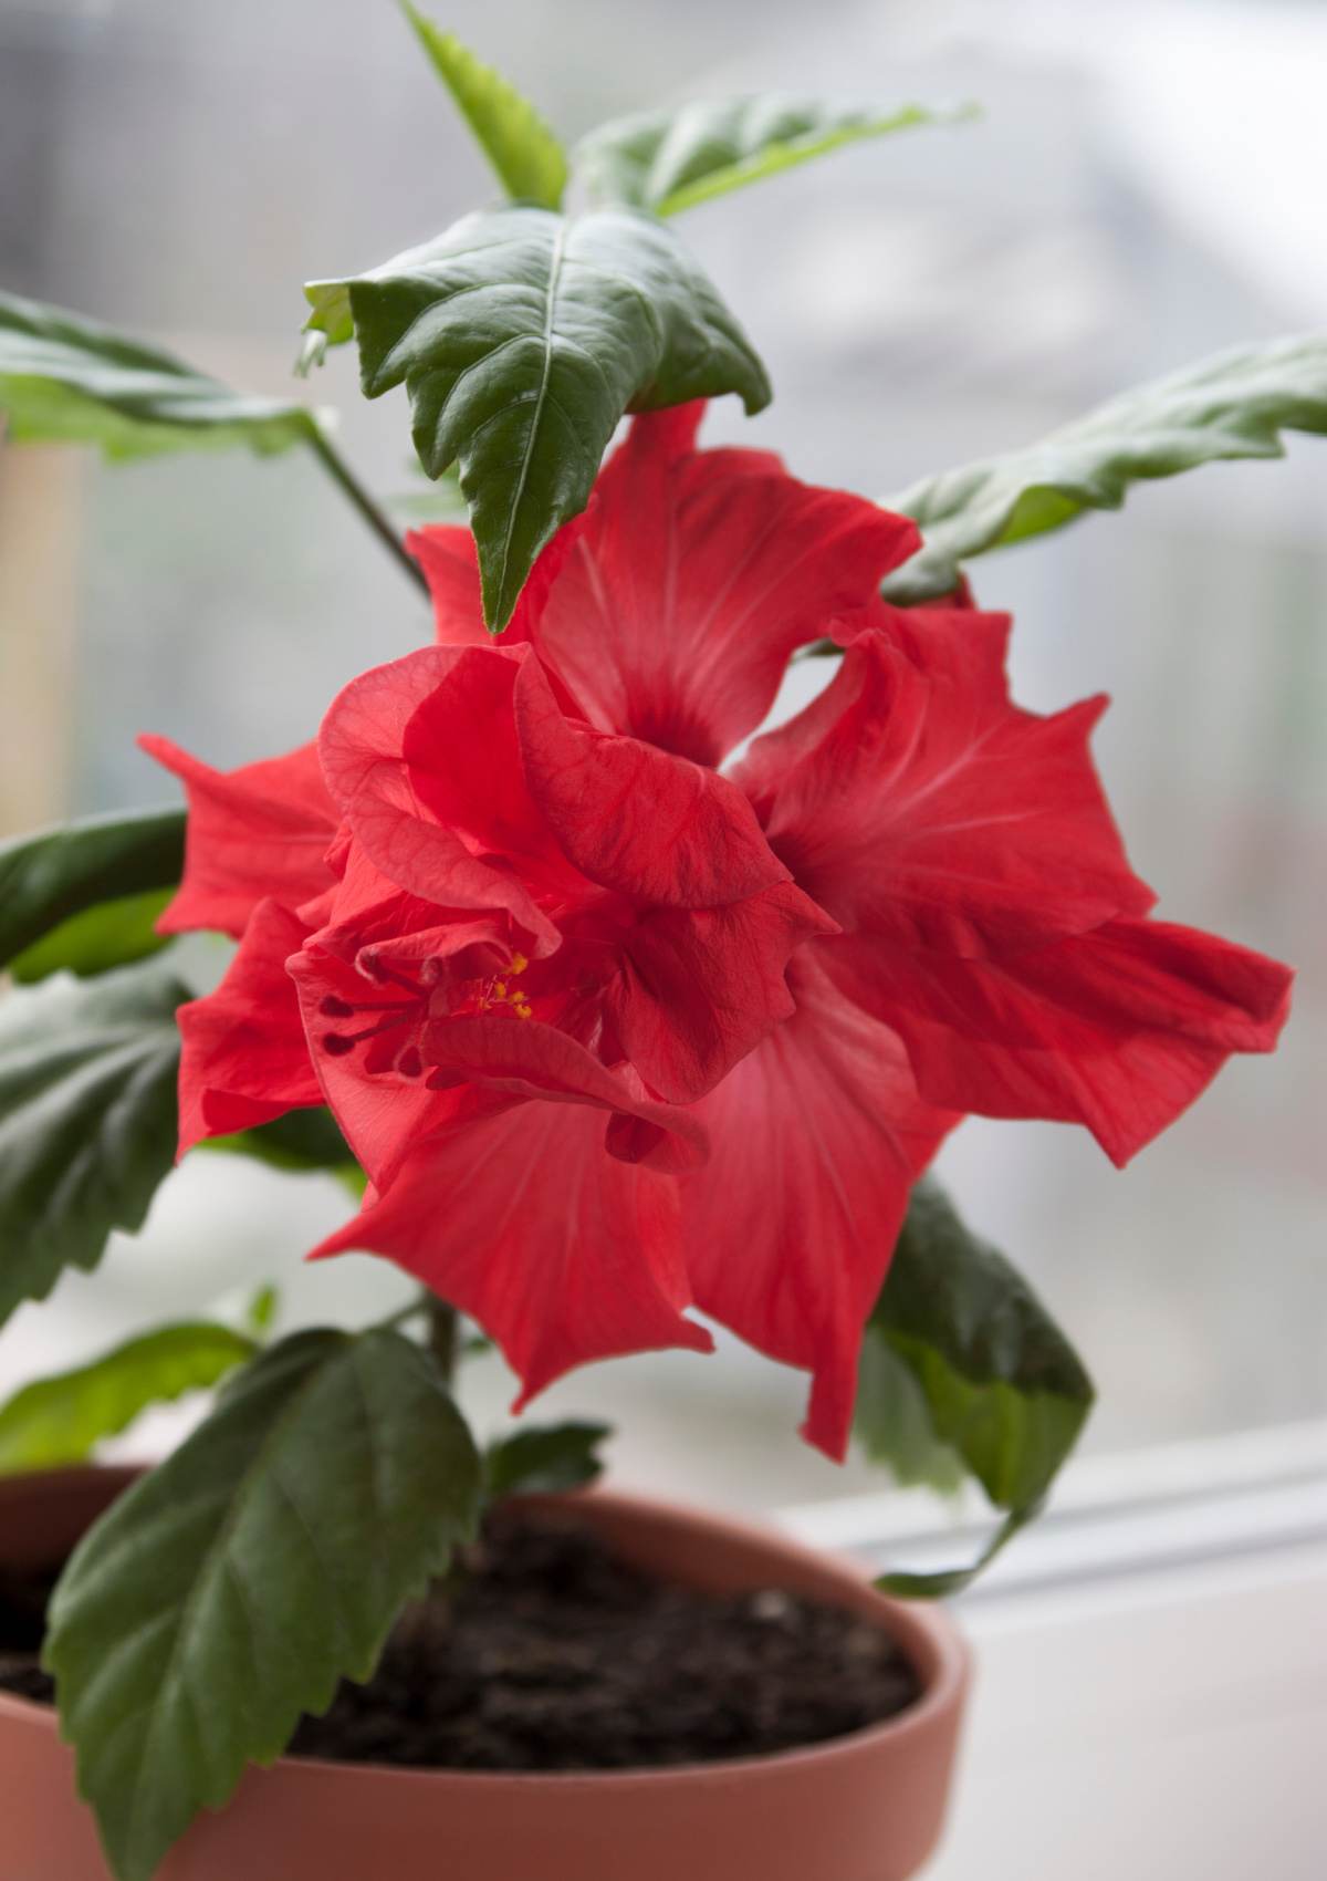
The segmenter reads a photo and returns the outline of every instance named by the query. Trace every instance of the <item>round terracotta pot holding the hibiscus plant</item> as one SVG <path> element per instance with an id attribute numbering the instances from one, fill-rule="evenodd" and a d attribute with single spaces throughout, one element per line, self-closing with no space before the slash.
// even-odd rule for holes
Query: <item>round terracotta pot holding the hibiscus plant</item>
<path id="1" fill-rule="evenodd" d="M 0 1559 L 58 1559 L 133 1471 L 0 1480 Z M 551 1501 L 549 1507 L 554 1503 Z M 568 1505 L 558 1505 L 568 1507 Z M 906 1881 L 940 1834 L 968 1682 L 953 1623 L 776 1535 L 594 1492 L 622 1556 L 716 1591 L 778 1586 L 887 1625 L 923 1697 L 831 1744 L 748 1762 L 504 1776 L 282 1761 L 201 1815 L 158 1881 Z M 109 1881 L 49 1708 L 0 1695 L 0 1881 Z"/>

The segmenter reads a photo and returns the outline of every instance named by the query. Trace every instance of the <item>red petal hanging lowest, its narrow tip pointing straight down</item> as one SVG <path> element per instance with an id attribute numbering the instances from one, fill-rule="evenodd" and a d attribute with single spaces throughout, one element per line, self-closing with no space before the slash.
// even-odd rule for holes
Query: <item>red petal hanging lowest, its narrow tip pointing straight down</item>
<path id="1" fill-rule="evenodd" d="M 836 946 L 795 957 L 795 1016 L 695 1106 L 712 1155 L 682 1181 L 682 1228 L 695 1304 L 814 1371 L 803 1433 L 842 1458 L 908 1191 L 959 1119 L 917 1097 L 898 1036 L 827 980 Z"/>

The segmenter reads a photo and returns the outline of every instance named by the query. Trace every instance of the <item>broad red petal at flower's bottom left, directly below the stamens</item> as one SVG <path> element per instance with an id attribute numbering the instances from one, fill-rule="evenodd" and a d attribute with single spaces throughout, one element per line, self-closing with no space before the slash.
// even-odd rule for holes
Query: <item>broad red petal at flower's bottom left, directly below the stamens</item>
<path id="1" fill-rule="evenodd" d="M 690 1302 L 677 1179 L 605 1155 L 583 1104 L 511 1104 L 423 1144 L 314 1258 L 387 1255 L 502 1345 L 521 1409 L 573 1366 L 712 1349 Z"/>

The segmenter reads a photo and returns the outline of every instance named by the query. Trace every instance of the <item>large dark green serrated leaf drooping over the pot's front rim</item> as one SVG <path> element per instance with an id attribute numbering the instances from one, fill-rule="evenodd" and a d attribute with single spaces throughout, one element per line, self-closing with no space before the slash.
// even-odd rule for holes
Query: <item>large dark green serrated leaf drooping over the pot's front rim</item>
<path id="1" fill-rule="evenodd" d="M 477 1507 L 470 1431 L 398 1334 L 295 1334 L 237 1375 L 51 1604 L 62 1729 L 117 1881 L 150 1881 L 246 1762 L 372 1676 Z"/>

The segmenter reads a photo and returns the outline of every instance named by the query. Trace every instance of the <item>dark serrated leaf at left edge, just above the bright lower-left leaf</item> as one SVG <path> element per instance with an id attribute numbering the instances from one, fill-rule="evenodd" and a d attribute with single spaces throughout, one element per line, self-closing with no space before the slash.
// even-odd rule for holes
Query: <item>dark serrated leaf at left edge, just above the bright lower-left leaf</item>
<path id="1" fill-rule="evenodd" d="M 0 999 L 0 1324 L 143 1226 L 175 1157 L 188 997 L 148 963 Z"/>

